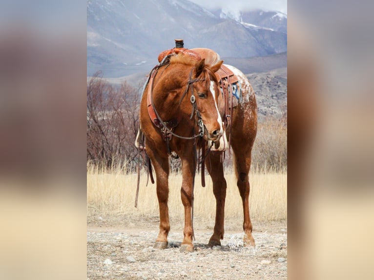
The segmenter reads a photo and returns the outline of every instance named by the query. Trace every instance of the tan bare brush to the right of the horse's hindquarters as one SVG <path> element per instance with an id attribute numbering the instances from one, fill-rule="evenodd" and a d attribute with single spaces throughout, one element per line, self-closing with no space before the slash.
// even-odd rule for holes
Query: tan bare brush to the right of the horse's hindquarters
<path id="1" fill-rule="evenodd" d="M 258 124 L 252 150 L 257 170 L 287 170 L 287 113 L 282 119 L 268 117 Z"/>

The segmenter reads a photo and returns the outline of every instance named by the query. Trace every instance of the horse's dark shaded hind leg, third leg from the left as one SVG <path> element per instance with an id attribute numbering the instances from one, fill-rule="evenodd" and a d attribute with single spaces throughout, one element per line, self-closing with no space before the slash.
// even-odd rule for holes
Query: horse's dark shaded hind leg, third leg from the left
<path id="1" fill-rule="evenodd" d="M 208 246 L 221 245 L 224 236 L 226 180 L 223 173 L 223 164 L 220 154 L 211 153 L 206 160 L 207 170 L 213 181 L 213 194 L 216 199 L 216 217 L 213 235 L 209 239 Z"/>

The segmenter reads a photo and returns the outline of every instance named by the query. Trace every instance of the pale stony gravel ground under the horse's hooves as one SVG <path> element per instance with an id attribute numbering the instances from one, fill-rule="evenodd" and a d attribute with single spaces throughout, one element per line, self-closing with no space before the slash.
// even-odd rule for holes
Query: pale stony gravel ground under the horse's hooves
<path id="1" fill-rule="evenodd" d="M 287 279 L 287 228 L 257 226 L 255 248 L 243 248 L 240 230 L 222 246 L 207 246 L 212 230 L 195 227 L 195 250 L 180 253 L 183 229 L 169 233 L 168 248 L 153 249 L 158 226 L 87 227 L 87 280 L 96 279 Z"/>

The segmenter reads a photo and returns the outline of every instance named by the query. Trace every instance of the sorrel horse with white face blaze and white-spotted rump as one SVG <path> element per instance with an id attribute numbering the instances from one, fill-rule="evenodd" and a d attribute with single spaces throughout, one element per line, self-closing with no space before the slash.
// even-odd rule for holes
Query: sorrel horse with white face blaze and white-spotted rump
<path id="1" fill-rule="evenodd" d="M 145 151 L 154 166 L 157 198 L 160 211 L 160 231 L 154 248 L 167 247 L 170 230 L 168 215 L 169 155 L 172 152 L 182 161 L 183 180 L 182 203 L 185 208 L 184 239 L 181 252 L 194 249 L 193 238 L 193 187 L 196 165 L 199 161 L 197 150 L 208 150 L 200 160 L 206 162 L 213 181 L 216 198 L 214 232 L 208 245 L 220 245 L 224 236 L 224 208 L 226 180 L 224 178 L 222 152 L 227 148 L 227 137 L 235 155 L 237 186 L 243 201 L 246 233 L 244 242 L 254 246 L 252 224 L 249 218 L 249 167 L 251 149 L 257 130 L 257 106 L 254 92 L 247 80 L 236 68 L 229 68 L 241 82 L 242 100 L 232 110 L 231 129 L 225 132 L 219 104 L 223 97 L 215 72 L 223 61 L 207 65 L 205 59 L 196 60 L 187 55 L 172 54 L 157 65 L 150 73 L 145 85 L 140 106 L 140 127 L 145 137 Z M 227 135 L 226 137 L 226 134 Z M 210 151 L 208 142 L 214 143 Z M 222 147 L 225 145 L 226 147 Z M 204 149 L 204 150 L 205 150 Z M 204 158 L 203 158 L 204 157 Z M 152 177 L 151 177 L 152 178 Z M 153 179 L 153 178 L 152 178 Z"/>

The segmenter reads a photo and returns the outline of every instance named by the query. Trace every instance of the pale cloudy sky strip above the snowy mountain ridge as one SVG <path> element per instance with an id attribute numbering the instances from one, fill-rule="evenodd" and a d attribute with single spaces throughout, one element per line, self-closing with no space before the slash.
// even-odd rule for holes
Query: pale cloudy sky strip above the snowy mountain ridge
<path id="1" fill-rule="evenodd" d="M 204 8 L 225 7 L 232 11 L 263 9 L 287 14 L 287 0 L 190 0 Z"/>

